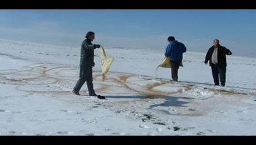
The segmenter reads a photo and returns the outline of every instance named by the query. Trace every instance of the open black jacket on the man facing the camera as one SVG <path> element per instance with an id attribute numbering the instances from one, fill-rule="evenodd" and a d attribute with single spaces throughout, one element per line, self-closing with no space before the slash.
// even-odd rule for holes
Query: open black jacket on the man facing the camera
<path id="1" fill-rule="evenodd" d="M 204 63 L 207 64 L 208 60 L 209 60 L 209 65 L 211 66 L 213 63 L 211 63 L 211 55 L 213 55 L 213 51 L 214 51 L 214 45 L 211 46 L 205 56 L 205 61 Z M 219 45 L 218 46 L 218 63 L 217 65 L 220 67 L 225 67 L 227 66 L 227 60 L 226 60 L 226 55 L 231 55 L 232 52 L 225 48 L 224 46 Z"/>

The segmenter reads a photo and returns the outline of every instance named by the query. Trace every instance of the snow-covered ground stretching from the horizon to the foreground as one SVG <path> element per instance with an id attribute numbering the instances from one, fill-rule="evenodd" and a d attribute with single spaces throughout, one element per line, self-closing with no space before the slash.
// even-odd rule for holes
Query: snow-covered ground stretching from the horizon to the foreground
<path id="1" fill-rule="evenodd" d="M 96 49 L 99 100 L 86 84 L 71 94 L 80 48 L 0 39 L 0 134 L 255 135 L 256 59 L 227 56 L 227 86 L 216 87 L 205 54 L 190 49 L 179 82 L 156 71 L 164 48 L 105 48 L 115 60 L 102 81 Z"/>

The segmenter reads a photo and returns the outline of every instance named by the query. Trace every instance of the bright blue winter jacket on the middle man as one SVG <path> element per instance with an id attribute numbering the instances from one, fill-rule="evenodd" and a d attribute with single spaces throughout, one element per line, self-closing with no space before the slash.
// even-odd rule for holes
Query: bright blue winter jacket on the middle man
<path id="1" fill-rule="evenodd" d="M 186 47 L 183 43 L 176 40 L 170 42 L 165 49 L 165 56 L 170 57 L 170 61 L 180 61 L 183 59 L 183 53 L 186 52 Z"/>

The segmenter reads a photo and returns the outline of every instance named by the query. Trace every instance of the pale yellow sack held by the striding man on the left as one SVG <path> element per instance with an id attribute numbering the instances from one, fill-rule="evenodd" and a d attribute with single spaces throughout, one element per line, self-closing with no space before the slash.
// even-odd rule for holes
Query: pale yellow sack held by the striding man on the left
<path id="1" fill-rule="evenodd" d="M 100 48 L 100 61 L 101 61 L 101 70 L 102 70 L 102 81 L 104 81 L 106 79 L 106 74 L 110 69 L 110 65 L 114 61 L 114 58 L 107 57 L 102 45 Z"/>

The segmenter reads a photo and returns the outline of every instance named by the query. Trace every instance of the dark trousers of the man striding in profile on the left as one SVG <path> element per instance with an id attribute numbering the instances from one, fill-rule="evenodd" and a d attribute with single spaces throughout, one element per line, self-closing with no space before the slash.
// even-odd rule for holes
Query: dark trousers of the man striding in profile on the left
<path id="1" fill-rule="evenodd" d="M 92 84 L 92 66 L 80 67 L 79 80 L 76 82 L 76 86 L 73 88 L 75 92 L 79 92 L 82 85 L 87 83 L 89 95 L 95 94 Z"/>

